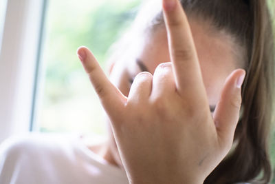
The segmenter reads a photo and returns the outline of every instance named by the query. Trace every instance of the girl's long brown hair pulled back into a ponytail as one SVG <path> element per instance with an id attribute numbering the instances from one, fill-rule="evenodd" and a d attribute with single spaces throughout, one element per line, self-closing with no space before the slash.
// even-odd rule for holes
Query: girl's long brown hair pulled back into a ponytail
<path id="1" fill-rule="evenodd" d="M 148 0 L 147 0 L 148 1 Z M 274 94 L 274 45 L 272 22 L 265 0 L 181 0 L 188 17 L 205 19 L 216 30 L 232 36 L 243 48 L 247 72 L 242 107 L 234 134 L 234 147 L 204 183 L 269 183 L 270 130 Z M 159 0 L 147 2 L 133 26 L 113 48 L 110 61 L 131 48 L 144 32 L 164 25 Z"/>

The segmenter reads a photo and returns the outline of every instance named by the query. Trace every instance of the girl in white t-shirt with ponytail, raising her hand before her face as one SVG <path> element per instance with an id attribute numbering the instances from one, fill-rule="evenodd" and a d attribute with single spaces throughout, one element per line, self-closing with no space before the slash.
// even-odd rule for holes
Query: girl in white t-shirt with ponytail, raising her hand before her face
<path id="1" fill-rule="evenodd" d="M 164 17 L 160 1 L 142 9 L 111 58 L 114 85 L 87 48 L 78 50 L 111 119 L 109 141 L 89 153 L 81 142 L 41 136 L 7 141 L 0 183 L 270 182 L 267 5 L 180 2 L 188 19 L 179 1 L 163 1 Z"/>

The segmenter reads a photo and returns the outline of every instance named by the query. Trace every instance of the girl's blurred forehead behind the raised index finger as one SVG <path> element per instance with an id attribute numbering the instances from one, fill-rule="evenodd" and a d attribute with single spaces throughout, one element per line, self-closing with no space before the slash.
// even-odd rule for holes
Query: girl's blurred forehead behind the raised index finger
<path id="1" fill-rule="evenodd" d="M 224 32 L 214 32 L 208 23 L 190 20 L 190 28 L 197 49 L 203 83 L 211 104 L 217 103 L 226 77 L 237 68 L 237 57 L 232 38 Z M 170 62 L 166 30 L 159 27 L 148 32 L 137 52 L 137 59 L 143 61 L 153 74 L 159 63 Z M 134 68 L 137 66 L 135 65 Z"/>

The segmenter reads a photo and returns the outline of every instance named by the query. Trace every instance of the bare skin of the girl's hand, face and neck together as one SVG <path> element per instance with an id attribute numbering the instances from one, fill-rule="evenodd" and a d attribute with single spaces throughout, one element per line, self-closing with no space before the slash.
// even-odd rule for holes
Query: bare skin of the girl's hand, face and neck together
<path id="1" fill-rule="evenodd" d="M 245 72 L 235 70 L 239 57 L 228 35 L 206 34 L 211 28 L 199 20 L 189 26 L 178 1 L 165 2 L 166 30 L 146 35 L 136 54 L 151 74 L 137 74 L 135 59 L 118 61 L 111 70 L 118 90 L 91 52 L 78 50 L 111 125 L 109 143 L 91 150 L 124 168 L 130 183 L 203 183 L 232 146 Z M 217 105 L 214 114 L 209 105 Z"/>

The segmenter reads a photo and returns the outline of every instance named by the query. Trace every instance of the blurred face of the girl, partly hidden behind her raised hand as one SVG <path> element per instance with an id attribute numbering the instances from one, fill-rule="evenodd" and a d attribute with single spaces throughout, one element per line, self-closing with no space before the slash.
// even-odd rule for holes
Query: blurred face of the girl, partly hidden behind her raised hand
<path id="1" fill-rule="evenodd" d="M 236 63 L 241 62 L 239 61 L 241 57 L 236 54 L 238 53 L 236 44 L 228 34 L 214 32 L 208 23 L 197 20 L 190 20 L 190 28 L 197 48 L 210 110 L 214 111 L 223 83 L 227 76 L 240 66 Z M 110 73 L 111 81 L 125 96 L 128 96 L 131 81 L 136 74 L 143 71 L 153 74 L 159 63 L 170 62 L 164 26 L 144 35 L 133 47 L 133 52 L 128 57 L 115 61 Z M 109 132 L 111 134 L 111 131 Z M 111 138 L 113 139 L 113 135 Z M 112 152 L 117 163 L 121 165 L 114 140 Z"/>

